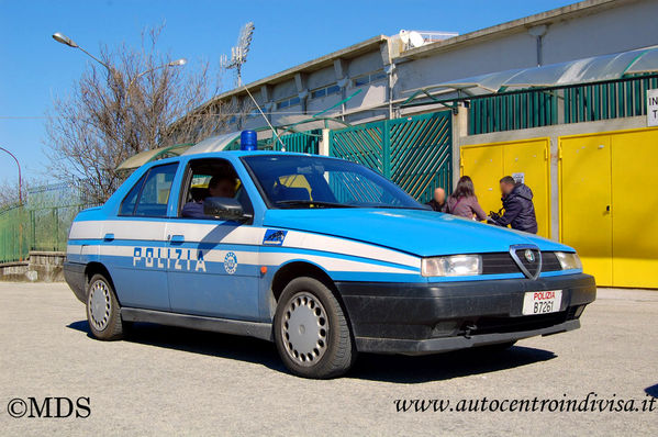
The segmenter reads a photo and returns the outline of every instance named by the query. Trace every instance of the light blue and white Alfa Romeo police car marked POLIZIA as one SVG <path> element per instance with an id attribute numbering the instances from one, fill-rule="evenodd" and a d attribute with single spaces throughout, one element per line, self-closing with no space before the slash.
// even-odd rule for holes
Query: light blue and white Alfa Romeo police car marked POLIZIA
<path id="1" fill-rule="evenodd" d="M 254 336 L 308 378 L 358 351 L 568 332 L 595 298 L 570 247 L 428 211 L 354 163 L 272 152 L 144 165 L 78 214 L 65 277 L 99 339 L 133 322 Z"/>

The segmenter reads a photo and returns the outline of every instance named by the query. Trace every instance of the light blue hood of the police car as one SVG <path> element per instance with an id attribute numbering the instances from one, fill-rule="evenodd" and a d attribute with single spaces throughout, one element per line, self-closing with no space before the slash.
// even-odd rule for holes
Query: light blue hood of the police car
<path id="1" fill-rule="evenodd" d="M 535 235 L 424 210 L 268 210 L 264 226 L 349 238 L 422 257 L 508 251 L 515 244 L 572 251 Z"/>

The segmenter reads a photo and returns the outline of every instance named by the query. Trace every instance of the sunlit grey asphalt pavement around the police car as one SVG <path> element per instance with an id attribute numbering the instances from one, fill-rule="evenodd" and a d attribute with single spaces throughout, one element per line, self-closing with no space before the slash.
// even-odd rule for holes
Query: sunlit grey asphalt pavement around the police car
<path id="1" fill-rule="evenodd" d="M 275 347 L 256 339 L 140 324 L 130 340 L 97 341 L 66 284 L 0 282 L 0 429 L 85 436 L 656 435 L 657 320 L 658 292 L 600 290 L 573 333 L 495 354 L 361 355 L 347 377 L 311 381 L 290 376 Z M 635 400 L 642 406 L 656 399 L 656 405 L 654 412 L 434 412 L 439 404 L 431 401 L 448 400 L 454 407 L 484 396 L 489 403 L 540 402 L 583 400 L 590 392 L 590 401 Z M 90 414 L 12 418 L 8 403 L 30 396 L 89 397 Z M 432 407 L 397 412 L 395 400 L 430 400 Z"/>

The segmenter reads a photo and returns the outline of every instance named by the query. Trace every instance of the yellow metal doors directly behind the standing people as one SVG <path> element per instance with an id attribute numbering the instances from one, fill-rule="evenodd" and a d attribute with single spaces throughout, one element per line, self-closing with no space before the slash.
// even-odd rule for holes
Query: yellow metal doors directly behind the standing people
<path id="1" fill-rule="evenodd" d="M 486 212 L 502 208 L 500 179 L 523 172 L 534 194 L 538 235 L 550 237 L 549 138 L 462 146 L 460 153 L 461 176 L 471 177 Z"/>

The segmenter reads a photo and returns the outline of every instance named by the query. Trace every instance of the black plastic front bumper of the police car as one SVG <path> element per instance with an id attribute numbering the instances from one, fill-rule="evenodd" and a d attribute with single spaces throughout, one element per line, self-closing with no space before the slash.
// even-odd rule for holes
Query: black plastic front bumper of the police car
<path id="1" fill-rule="evenodd" d="M 357 349 L 421 355 L 513 341 L 580 327 L 594 278 L 565 274 L 434 283 L 337 282 Z M 523 315 L 528 291 L 562 290 L 561 311 Z"/>

